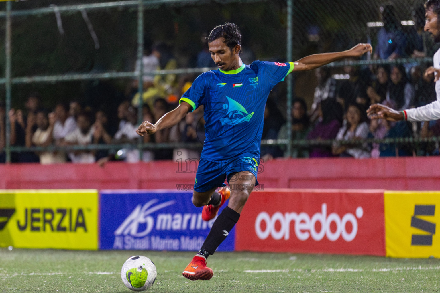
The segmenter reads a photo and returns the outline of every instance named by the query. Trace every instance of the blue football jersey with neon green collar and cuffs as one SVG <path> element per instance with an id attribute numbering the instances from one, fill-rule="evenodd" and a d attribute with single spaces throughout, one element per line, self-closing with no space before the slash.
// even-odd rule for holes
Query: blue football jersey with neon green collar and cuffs
<path id="1" fill-rule="evenodd" d="M 253 61 L 231 71 L 198 76 L 181 101 L 193 110 L 203 105 L 205 144 L 201 157 L 221 162 L 260 158 L 264 108 L 272 88 L 293 70 L 293 62 Z"/>

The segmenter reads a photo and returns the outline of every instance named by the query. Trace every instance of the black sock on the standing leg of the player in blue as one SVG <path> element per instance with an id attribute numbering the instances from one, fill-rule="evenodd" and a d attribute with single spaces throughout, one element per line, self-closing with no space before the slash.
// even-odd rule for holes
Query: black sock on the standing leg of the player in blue
<path id="1" fill-rule="evenodd" d="M 213 228 L 209 231 L 200 251 L 205 250 L 209 254 L 214 254 L 217 247 L 226 239 L 226 236 L 229 235 L 229 232 L 237 224 L 239 218 L 239 213 L 232 210 L 229 206 L 225 207 L 214 222 Z"/>

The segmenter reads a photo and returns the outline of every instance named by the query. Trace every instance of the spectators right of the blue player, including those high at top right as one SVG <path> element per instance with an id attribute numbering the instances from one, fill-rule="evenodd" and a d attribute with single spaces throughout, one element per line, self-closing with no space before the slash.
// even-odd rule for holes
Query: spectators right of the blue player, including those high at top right
<path id="1" fill-rule="evenodd" d="M 374 59 L 432 57 L 439 48 L 429 33 L 424 32 L 425 9 L 418 6 L 412 12 L 414 25 L 403 28 L 392 5 L 380 8 L 382 26 L 378 29 Z M 354 157 L 428 156 L 438 155 L 438 144 L 378 144 L 362 143 L 366 138 L 433 137 L 440 135 L 440 120 L 426 123 L 370 121 L 366 109 L 382 103 L 396 110 L 419 107 L 436 100 L 433 75 L 424 76 L 426 66 L 417 63 L 403 65 L 345 66 L 339 79 L 332 77 L 329 68 L 315 70 L 318 86 L 310 109 L 302 98 L 292 104 L 293 139 L 334 140 L 332 145 L 293 148 L 290 154 L 280 148 L 262 149 L 262 158 L 292 157 Z M 342 79 L 340 77 L 343 77 Z M 271 102 L 266 110 L 273 112 Z M 276 112 L 276 111 L 275 111 Z M 278 115 L 275 115 L 278 117 Z M 287 138 L 287 125 L 266 122 L 263 139 Z M 282 125 L 282 126 L 281 126 Z M 265 133 L 267 134 L 265 136 Z M 277 133 L 277 135 L 273 135 Z M 270 134 L 270 135 L 269 135 Z M 352 145 L 338 141 L 351 140 Z M 357 142 L 360 141 L 360 142 Z M 356 143 L 355 143 L 356 142 Z"/>

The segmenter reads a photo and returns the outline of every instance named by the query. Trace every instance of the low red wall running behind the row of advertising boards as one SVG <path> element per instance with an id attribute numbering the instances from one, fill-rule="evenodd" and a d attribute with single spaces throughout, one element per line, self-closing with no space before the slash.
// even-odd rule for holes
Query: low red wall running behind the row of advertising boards
<path id="1" fill-rule="evenodd" d="M 193 184 L 196 162 L 0 165 L 0 188 L 182 188 Z M 265 188 L 439 190 L 440 157 L 276 159 L 260 163 Z M 191 186 L 183 186 L 188 188 Z"/>

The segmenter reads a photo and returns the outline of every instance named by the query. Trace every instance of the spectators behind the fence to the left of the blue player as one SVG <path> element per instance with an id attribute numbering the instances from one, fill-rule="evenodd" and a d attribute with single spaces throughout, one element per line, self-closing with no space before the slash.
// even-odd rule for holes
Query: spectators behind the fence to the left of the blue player
<path id="1" fill-rule="evenodd" d="M 149 75 L 149 72 L 154 70 L 177 67 L 171 48 L 164 43 L 153 46 L 146 40 L 142 62 L 145 75 L 143 76 L 141 116 L 143 121 L 155 123 L 166 112 L 178 105 L 180 96 L 191 87 L 195 76 L 192 74 Z M 197 62 L 199 67 L 215 66 L 206 50 L 198 54 Z M 135 67 L 138 71 L 140 65 L 136 64 Z M 9 113 L 6 113 L 4 103 L 0 104 L 0 162 L 5 161 L 6 115 L 11 122 L 11 146 L 46 147 L 90 144 L 121 146 L 119 149 L 74 150 L 68 153 L 61 151 L 12 152 L 12 162 L 105 163 L 114 159 L 138 162 L 141 157 L 137 149 L 139 142 L 204 141 L 205 122 L 202 109 L 189 113 L 181 123 L 171 129 L 161 130 L 152 136 L 146 135 L 142 138 L 136 134 L 139 126 L 138 86 L 138 80 L 130 81 L 117 107 L 113 106 L 114 102 L 110 101 L 109 96 L 114 95 L 111 89 L 100 85 L 89 90 L 88 95 L 95 95 L 95 101 L 89 102 L 88 105 L 83 105 L 80 101 L 59 102 L 52 109 L 46 109 L 42 106 L 43 100 L 37 92 L 29 94 L 24 109 L 11 109 Z M 192 149 L 175 149 L 173 152 L 173 149 L 160 148 L 143 151 L 142 160 L 197 158 L 199 156 L 200 152 Z"/>

